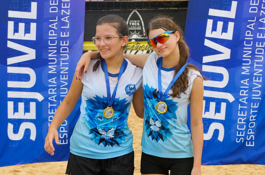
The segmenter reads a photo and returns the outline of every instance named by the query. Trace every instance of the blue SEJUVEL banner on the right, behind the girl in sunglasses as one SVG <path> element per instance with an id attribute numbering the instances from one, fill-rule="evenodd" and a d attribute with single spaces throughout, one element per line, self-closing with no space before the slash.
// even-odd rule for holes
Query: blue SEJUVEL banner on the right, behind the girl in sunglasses
<path id="1" fill-rule="evenodd" d="M 190 1 L 185 40 L 209 79 L 202 164 L 265 164 L 265 1 Z"/>

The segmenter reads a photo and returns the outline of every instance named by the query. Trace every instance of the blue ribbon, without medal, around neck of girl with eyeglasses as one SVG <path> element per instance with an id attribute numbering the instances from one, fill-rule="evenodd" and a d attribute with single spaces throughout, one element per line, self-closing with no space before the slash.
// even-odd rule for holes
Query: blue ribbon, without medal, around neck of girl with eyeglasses
<path id="1" fill-rule="evenodd" d="M 118 81 L 117 81 L 117 84 L 113 90 L 112 96 L 110 95 L 109 73 L 108 73 L 107 63 L 105 60 L 103 60 L 102 62 L 103 62 L 103 69 L 104 69 L 104 73 L 105 73 L 105 81 L 106 81 L 106 86 L 107 86 L 108 106 L 112 106 L 114 99 L 115 99 L 115 96 L 116 96 L 119 79 L 122 76 L 123 69 L 125 67 L 125 60 L 123 59 L 122 66 L 120 67 L 120 72 L 118 74 Z"/>

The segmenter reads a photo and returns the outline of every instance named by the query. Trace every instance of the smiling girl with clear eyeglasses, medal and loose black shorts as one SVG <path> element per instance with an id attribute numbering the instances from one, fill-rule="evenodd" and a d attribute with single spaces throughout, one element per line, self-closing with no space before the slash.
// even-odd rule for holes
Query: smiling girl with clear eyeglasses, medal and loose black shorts
<path id="1" fill-rule="evenodd" d="M 131 102 L 143 118 L 142 68 L 123 57 L 128 26 L 118 15 L 106 15 L 96 24 L 92 38 L 99 53 L 82 75 L 74 79 L 60 104 L 45 139 L 45 150 L 54 155 L 59 145 L 58 127 L 73 110 L 80 95 L 80 118 L 70 139 L 66 174 L 133 175 L 133 134 L 128 128 Z M 83 71 L 83 70 L 82 70 Z"/>

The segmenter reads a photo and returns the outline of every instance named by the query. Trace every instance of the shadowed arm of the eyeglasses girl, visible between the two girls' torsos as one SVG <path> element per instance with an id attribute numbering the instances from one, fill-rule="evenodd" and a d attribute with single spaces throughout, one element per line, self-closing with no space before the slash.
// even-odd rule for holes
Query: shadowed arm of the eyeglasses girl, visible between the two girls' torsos
<path id="1" fill-rule="evenodd" d="M 144 104 L 143 104 L 143 88 L 142 85 L 140 88 L 133 94 L 133 108 L 135 114 L 139 118 L 143 118 Z"/>

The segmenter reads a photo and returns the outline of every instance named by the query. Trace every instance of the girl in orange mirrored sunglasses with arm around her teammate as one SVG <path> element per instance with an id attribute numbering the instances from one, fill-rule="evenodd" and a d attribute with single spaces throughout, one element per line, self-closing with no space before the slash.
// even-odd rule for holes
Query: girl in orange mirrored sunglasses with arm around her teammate
<path id="1" fill-rule="evenodd" d="M 188 64 L 183 32 L 168 17 L 156 17 L 147 27 L 151 54 L 126 55 L 143 67 L 145 113 L 142 135 L 142 174 L 200 175 L 203 145 L 203 80 Z M 96 52 L 87 52 L 77 64 L 87 65 Z M 77 74 L 77 77 L 78 74 Z M 80 78 L 80 77 L 79 77 Z M 190 103 L 190 130 L 187 106 Z"/>

